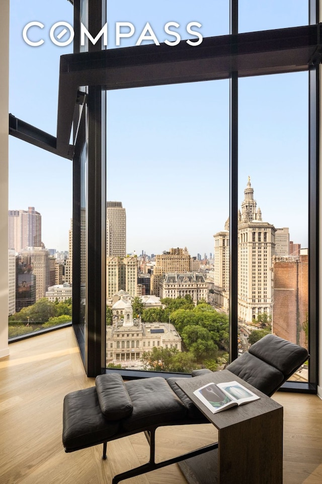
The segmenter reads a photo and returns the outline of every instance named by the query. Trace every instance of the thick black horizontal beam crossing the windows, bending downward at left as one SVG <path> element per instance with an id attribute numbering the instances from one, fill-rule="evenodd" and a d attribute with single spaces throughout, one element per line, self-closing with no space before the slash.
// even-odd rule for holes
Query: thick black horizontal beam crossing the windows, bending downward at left
<path id="1" fill-rule="evenodd" d="M 81 52 L 60 59 L 57 148 L 67 151 L 79 86 L 125 89 L 308 70 L 320 25 Z"/>

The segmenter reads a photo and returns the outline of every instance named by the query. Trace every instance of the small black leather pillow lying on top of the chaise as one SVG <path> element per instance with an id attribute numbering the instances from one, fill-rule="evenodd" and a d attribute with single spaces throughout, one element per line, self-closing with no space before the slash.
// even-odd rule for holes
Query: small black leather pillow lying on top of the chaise
<path id="1" fill-rule="evenodd" d="M 132 413 L 133 405 L 121 375 L 99 375 L 95 386 L 101 410 L 108 420 L 119 420 Z"/>

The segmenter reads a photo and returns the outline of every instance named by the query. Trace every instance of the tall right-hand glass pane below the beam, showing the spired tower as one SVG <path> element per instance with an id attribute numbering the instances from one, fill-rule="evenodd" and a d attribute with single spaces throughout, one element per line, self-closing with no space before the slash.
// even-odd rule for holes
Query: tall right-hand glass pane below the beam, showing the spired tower
<path id="1" fill-rule="evenodd" d="M 307 73 L 239 80 L 241 350 L 265 332 L 307 347 L 307 83 Z"/>

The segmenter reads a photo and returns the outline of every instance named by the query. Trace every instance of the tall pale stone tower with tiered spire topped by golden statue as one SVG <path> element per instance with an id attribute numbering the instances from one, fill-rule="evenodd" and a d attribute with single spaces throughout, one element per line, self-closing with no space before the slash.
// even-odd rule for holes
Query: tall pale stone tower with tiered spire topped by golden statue
<path id="1" fill-rule="evenodd" d="M 263 222 L 254 200 L 251 180 L 238 210 L 238 318 L 252 321 L 259 314 L 272 314 L 272 257 L 275 255 L 276 228 Z M 229 305 L 229 223 L 214 235 L 215 300 L 228 310 Z"/>

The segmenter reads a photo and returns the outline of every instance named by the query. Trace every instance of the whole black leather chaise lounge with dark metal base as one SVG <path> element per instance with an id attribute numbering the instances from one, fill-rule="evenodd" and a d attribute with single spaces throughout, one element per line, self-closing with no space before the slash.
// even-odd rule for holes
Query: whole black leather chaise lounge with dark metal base
<path id="1" fill-rule="evenodd" d="M 271 396 L 308 358 L 305 348 L 269 334 L 226 367 L 234 375 Z M 198 377 L 210 370 L 196 370 Z M 65 452 L 103 444 L 144 432 L 149 462 L 114 476 L 112 484 L 215 449 L 214 443 L 173 459 L 155 463 L 155 431 L 160 426 L 208 423 L 178 387 L 179 378 L 151 377 L 123 382 L 118 374 L 99 375 L 95 386 L 69 393 L 63 405 Z"/>

